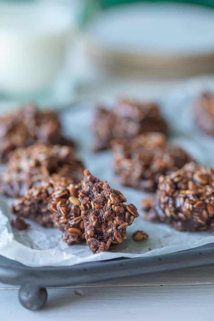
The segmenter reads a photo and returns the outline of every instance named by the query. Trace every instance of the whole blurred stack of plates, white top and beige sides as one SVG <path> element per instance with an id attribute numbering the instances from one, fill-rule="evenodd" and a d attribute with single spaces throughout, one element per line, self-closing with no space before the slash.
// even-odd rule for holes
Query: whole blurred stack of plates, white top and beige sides
<path id="1" fill-rule="evenodd" d="M 214 10 L 202 6 L 118 6 L 100 13 L 89 30 L 92 61 L 113 72 L 130 65 L 196 73 L 214 64 Z"/>

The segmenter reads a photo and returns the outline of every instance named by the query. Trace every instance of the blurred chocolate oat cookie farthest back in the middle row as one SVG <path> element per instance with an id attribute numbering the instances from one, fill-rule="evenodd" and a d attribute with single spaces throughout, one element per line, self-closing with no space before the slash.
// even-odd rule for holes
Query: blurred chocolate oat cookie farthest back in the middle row
<path id="1" fill-rule="evenodd" d="M 96 109 L 92 124 L 94 150 L 110 147 L 112 139 L 132 138 L 145 132 L 167 132 L 157 104 L 120 99 L 112 110 Z"/>

